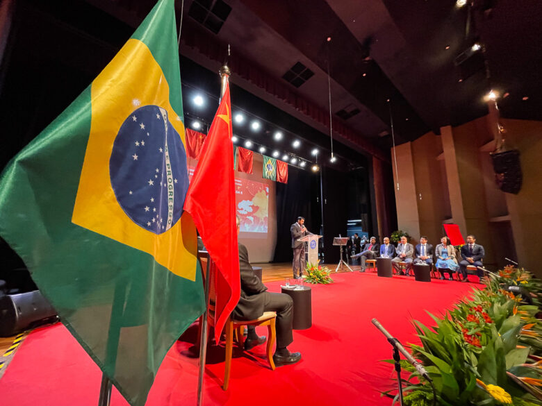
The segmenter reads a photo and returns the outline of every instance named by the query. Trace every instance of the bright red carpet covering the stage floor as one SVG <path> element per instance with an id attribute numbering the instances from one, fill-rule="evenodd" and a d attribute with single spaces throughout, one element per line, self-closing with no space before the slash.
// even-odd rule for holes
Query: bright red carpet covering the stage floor
<path id="1" fill-rule="evenodd" d="M 391 358 L 391 346 L 370 320 L 376 317 L 404 344 L 417 342 L 412 319 L 431 325 L 425 310 L 441 312 L 473 287 L 405 276 L 378 278 L 372 272 L 333 277 L 333 285 L 312 287 L 313 327 L 294 332 L 290 349 L 302 352 L 301 362 L 271 371 L 265 345 L 251 353 L 234 352 L 229 390 L 224 392 L 224 350 L 209 347 L 204 405 L 391 405 L 379 394 L 394 384 L 393 366 L 379 362 Z M 279 285 L 269 284 L 270 291 L 280 291 Z M 197 358 L 188 357 L 192 344 L 187 342 L 195 330 L 192 326 L 167 354 L 147 405 L 196 404 Z M 97 366 L 57 324 L 35 330 L 17 350 L 0 380 L 1 404 L 95 406 L 100 380 Z M 127 405 L 116 389 L 111 405 Z"/>

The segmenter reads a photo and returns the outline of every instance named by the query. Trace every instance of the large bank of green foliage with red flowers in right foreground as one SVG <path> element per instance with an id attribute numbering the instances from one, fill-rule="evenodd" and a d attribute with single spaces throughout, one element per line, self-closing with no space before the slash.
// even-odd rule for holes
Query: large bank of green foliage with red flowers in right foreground
<path id="1" fill-rule="evenodd" d="M 402 362 L 404 404 L 542 405 L 541 284 L 523 269 L 504 268 L 486 278 L 486 289 L 473 291 L 427 328 L 413 321 L 421 339 L 411 345 L 425 366 L 432 387 L 416 369 Z M 521 287 L 520 294 L 509 286 Z M 529 299 L 527 304 L 526 299 Z M 412 378 L 415 378 L 414 380 Z"/>

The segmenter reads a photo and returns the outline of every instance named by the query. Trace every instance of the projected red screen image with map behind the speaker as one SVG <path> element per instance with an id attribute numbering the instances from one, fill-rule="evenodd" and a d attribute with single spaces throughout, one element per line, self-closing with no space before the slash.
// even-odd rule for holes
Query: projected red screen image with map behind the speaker
<path id="1" fill-rule="evenodd" d="M 192 180 L 195 167 L 188 166 Z M 235 180 L 236 214 L 241 220 L 241 232 L 268 232 L 269 186 L 254 180 Z"/>

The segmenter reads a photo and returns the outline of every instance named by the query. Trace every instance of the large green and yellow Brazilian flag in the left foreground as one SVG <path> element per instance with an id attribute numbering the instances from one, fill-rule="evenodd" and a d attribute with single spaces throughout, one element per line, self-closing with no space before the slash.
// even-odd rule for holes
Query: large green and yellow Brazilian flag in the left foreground
<path id="1" fill-rule="evenodd" d="M 182 117 L 174 0 L 161 0 L 0 178 L 1 237 L 133 406 L 204 311 Z"/>

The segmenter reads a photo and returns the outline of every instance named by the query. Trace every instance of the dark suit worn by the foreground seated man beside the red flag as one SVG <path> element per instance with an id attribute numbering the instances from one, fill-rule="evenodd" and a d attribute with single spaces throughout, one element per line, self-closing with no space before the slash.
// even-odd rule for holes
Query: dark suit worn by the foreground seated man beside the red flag
<path id="1" fill-rule="evenodd" d="M 287 294 L 271 293 L 252 270 L 247 247 L 239 245 L 239 271 L 241 274 L 241 296 L 233 319 L 254 320 L 263 312 L 277 312 L 277 348 L 286 348 L 293 341 L 293 301 Z"/>

